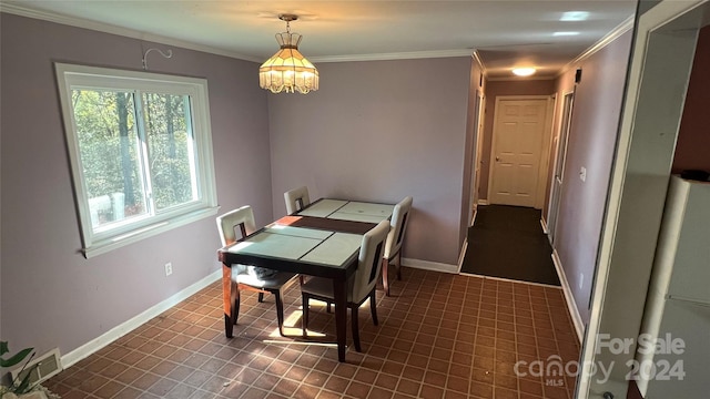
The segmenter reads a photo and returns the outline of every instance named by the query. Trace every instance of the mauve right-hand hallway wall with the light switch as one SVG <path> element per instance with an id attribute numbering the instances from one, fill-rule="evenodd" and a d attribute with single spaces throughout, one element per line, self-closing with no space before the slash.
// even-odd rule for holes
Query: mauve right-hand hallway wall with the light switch
<path id="1" fill-rule="evenodd" d="M 555 248 L 584 323 L 589 298 L 616 147 L 631 31 L 575 65 L 558 79 L 558 105 L 582 69 L 567 143 Z M 559 109 L 558 109 L 559 111 Z M 587 178 L 579 178 L 581 167 Z M 582 277 L 584 276 L 584 277 Z"/>

